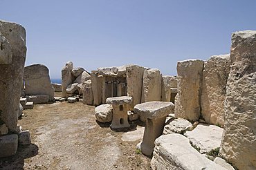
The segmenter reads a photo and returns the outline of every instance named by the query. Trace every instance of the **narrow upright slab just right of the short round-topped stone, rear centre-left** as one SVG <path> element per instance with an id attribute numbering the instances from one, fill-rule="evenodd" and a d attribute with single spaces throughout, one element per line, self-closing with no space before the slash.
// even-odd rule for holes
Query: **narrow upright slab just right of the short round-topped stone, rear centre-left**
<path id="1" fill-rule="evenodd" d="M 102 75 L 97 72 L 91 72 L 91 87 L 93 90 L 93 105 L 98 106 L 102 104 Z"/>

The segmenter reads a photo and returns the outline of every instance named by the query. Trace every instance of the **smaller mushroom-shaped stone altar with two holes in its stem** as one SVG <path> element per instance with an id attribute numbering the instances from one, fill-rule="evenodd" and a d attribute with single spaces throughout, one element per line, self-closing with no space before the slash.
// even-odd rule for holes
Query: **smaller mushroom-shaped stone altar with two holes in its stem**
<path id="1" fill-rule="evenodd" d="M 132 97 L 109 97 L 106 102 L 112 104 L 113 107 L 111 129 L 129 128 L 127 111 L 129 104 L 132 102 Z"/>

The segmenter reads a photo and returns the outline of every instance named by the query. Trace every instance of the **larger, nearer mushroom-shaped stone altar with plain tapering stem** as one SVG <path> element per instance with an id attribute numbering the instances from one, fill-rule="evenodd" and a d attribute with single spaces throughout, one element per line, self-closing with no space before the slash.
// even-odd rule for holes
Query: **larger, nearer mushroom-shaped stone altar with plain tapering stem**
<path id="1" fill-rule="evenodd" d="M 134 107 L 135 113 L 146 118 L 143 142 L 140 144 L 144 155 L 152 156 L 154 141 L 162 135 L 165 118 L 173 109 L 172 102 L 145 102 Z"/>

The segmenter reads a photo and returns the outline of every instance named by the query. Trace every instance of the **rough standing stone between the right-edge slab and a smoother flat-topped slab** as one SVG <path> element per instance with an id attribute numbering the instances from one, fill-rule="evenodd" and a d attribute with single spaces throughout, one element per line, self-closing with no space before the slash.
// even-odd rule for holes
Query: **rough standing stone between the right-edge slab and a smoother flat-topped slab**
<path id="1" fill-rule="evenodd" d="M 208 124 L 224 124 L 224 101 L 229 72 L 229 55 L 214 55 L 204 63 L 201 114 Z"/>

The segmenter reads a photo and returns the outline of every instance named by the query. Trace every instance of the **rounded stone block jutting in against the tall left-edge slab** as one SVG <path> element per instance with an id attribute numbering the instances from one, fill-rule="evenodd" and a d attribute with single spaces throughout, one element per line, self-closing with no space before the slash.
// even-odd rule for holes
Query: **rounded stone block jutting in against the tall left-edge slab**
<path id="1" fill-rule="evenodd" d="M 12 63 L 12 48 L 9 41 L 0 33 L 0 64 Z"/>

